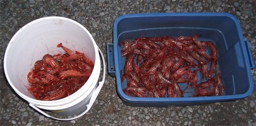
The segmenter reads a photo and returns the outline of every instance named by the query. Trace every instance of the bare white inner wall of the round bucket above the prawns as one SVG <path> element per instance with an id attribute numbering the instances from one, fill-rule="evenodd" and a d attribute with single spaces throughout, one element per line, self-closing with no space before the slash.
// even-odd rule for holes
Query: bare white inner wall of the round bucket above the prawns
<path id="1" fill-rule="evenodd" d="M 56 47 L 59 43 L 73 52 L 85 53 L 93 62 L 96 60 L 97 51 L 92 36 L 79 23 L 60 17 L 42 18 L 28 23 L 14 35 L 5 53 L 5 73 L 18 94 L 20 92 L 34 99 L 27 91 L 27 74 L 36 61 L 42 60 L 44 54 L 64 54 L 62 48 Z"/>

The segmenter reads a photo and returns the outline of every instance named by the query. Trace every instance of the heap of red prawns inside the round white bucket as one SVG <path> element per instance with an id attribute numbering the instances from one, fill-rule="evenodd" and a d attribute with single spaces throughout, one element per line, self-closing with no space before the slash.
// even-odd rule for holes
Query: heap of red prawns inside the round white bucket
<path id="1" fill-rule="evenodd" d="M 57 100 L 79 90 L 90 77 L 94 63 L 84 53 L 73 53 L 62 43 L 64 54 L 45 54 L 27 75 L 28 91 L 38 100 Z"/>

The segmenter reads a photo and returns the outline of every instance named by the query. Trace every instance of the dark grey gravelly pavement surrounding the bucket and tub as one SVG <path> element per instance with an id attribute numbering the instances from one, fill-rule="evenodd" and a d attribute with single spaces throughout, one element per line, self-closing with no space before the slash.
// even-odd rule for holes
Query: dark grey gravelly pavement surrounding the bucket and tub
<path id="1" fill-rule="evenodd" d="M 123 14 L 152 12 L 229 12 L 240 20 L 256 64 L 256 1 L 0 1 L 0 124 L 1 125 L 256 125 L 254 92 L 245 99 L 188 107 L 130 107 L 122 103 L 115 78 L 106 75 L 91 110 L 72 121 L 39 114 L 14 93 L 3 72 L 3 56 L 11 37 L 25 24 L 45 16 L 64 16 L 81 23 L 96 40 L 106 59 L 113 40 L 114 20 Z"/>

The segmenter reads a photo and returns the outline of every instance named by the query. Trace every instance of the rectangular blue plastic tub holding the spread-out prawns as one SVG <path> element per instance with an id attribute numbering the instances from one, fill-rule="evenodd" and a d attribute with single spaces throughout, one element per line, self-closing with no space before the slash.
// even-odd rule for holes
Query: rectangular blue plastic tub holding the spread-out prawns
<path id="1" fill-rule="evenodd" d="M 109 74 L 116 77 L 117 93 L 123 103 L 130 106 L 190 106 L 226 100 L 238 100 L 253 91 L 250 69 L 254 68 L 249 42 L 243 40 L 240 23 L 226 13 L 160 13 L 129 14 L 119 16 L 114 22 L 113 44 L 108 44 Z M 137 37 L 193 36 L 212 41 L 218 50 L 225 92 L 222 96 L 184 98 L 137 98 L 123 93 L 126 82 L 121 82 L 125 57 L 119 44 Z"/>

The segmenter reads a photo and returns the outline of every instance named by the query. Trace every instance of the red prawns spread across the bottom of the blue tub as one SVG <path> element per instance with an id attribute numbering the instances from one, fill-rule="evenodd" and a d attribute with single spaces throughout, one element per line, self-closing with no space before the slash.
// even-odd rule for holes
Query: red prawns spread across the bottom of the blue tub
<path id="1" fill-rule="evenodd" d="M 183 97 L 222 95 L 224 86 L 217 65 L 217 48 L 199 35 L 177 38 L 139 37 L 122 41 L 121 54 L 126 57 L 123 92 L 136 97 Z M 199 83 L 200 82 L 200 83 Z M 181 90 L 179 83 L 187 83 Z"/>

